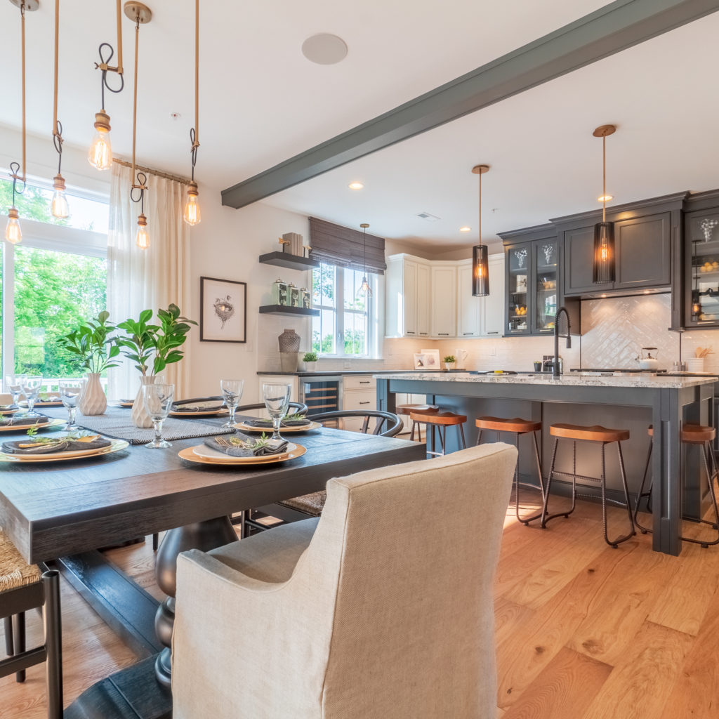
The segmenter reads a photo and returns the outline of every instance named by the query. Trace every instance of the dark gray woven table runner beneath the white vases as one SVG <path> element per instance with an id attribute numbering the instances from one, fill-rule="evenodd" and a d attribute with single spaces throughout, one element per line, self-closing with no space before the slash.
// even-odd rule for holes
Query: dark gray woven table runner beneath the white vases
<path id="1" fill-rule="evenodd" d="M 47 408 L 42 412 L 48 417 L 66 419 L 68 411 L 65 408 L 52 410 Z M 223 418 L 224 419 L 224 418 Z M 78 412 L 77 423 L 93 432 L 100 432 L 115 439 L 124 439 L 130 444 L 147 444 L 155 439 L 155 430 L 139 429 L 134 426 L 130 418 L 130 410 L 119 407 L 108 407 L 104 414 L 86 416 Z M 207 419 L 175 419 L 168 417 L 162 423 L 162 439 L 191 439 L 192 437 L 209 437 L 214 434 L 232 434 L 235 430 L 214 424 Z"/>

